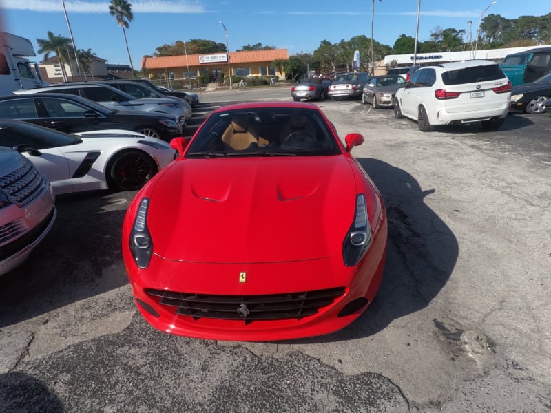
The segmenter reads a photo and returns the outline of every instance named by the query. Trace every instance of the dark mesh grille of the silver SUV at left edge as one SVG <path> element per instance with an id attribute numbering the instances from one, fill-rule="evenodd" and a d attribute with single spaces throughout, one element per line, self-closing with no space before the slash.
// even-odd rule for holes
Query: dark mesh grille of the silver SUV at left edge
<path id="1" fill-rule="evenodd" d="M 25 165 L 0 178 L 0 189 L 18 205 L 25 205 L 42 192 L 46 185 L 43 176 L 26 160 Z"/>

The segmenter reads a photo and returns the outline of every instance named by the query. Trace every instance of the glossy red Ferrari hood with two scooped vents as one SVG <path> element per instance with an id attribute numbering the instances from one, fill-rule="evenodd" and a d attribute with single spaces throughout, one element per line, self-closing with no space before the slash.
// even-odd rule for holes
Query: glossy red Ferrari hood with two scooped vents
<path id="1" fill-rule="evenodd" d="M 152 190 L 147 225 L 154 253 L 218 263 L 341 254 L 355 211 L 349 162 L 344 156 L 177 162 Z"/>

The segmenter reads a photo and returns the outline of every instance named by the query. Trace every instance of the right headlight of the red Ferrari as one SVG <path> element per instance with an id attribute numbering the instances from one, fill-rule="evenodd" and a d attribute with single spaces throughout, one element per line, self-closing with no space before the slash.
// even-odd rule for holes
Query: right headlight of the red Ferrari
<path id="1" fill-rule="evenodd" d="M 366 197 L 363 193 L 356 197 L 354 221 L 342 242 L 344 265 L 354 266 L 365 255 L 371 244 L 371 226 L 367 216 Z"/>

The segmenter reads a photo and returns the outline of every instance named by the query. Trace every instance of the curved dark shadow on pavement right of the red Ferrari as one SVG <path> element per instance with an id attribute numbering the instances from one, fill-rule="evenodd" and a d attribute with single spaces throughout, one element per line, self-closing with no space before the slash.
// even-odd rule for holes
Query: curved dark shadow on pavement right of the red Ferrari
<path id="1" fill-rule="evenodd" d="M 346 328 L 287 343 L 324 343 L 374 335 L 394 320 L 428 306 L 455 267 L 457 238 L 424 202 L 437 191 L 422 189 L 410 173 L 386 162 L 357 160 L 380 189 L 386 207 L 388 251 L 382 285 L 373 303 Z"/>

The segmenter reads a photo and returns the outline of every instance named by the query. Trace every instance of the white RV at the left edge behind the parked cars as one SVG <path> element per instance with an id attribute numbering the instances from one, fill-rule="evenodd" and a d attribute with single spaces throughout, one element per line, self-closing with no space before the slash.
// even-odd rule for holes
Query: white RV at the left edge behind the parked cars
<path id="1" fill-rule="evenodd" d="M 0 95 L 48 86 L 40 77 L 37 63 L 29 61 L 30 56 L 36 54 L 29 39 L 0 32 Z"/>

